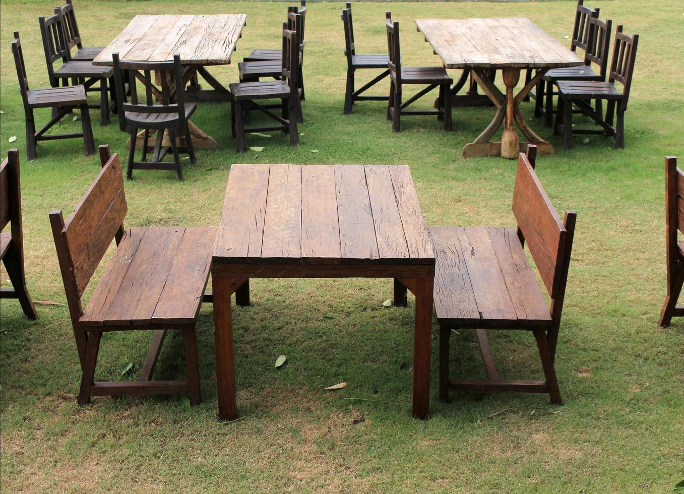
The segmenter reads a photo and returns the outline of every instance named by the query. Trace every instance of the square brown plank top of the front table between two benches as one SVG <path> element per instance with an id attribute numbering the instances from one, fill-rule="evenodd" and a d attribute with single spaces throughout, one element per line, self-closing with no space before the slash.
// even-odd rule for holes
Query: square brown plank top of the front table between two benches
<path id="1" fill-rule="evenodd" d="M 213 263 L 434 261 L 408 166 L 231 166 Z"/>

